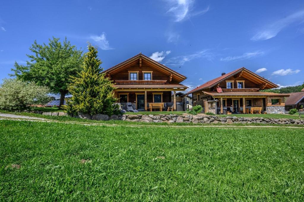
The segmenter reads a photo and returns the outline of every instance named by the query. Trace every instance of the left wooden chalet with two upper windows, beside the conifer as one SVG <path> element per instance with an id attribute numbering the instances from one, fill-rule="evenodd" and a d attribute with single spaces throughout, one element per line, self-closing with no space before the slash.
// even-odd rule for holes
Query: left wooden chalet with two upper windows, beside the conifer
<path id="1" fill-rule="evenodd" d="M 188 87 L 180 84 L 185 76 L 139 53 L 103 73 L 115 82 L 115 98 L 122 108 L 132 103 L 133 109 L 149 110 L 149 103 L 164 103 L 164 110 L 176 110 L 176 91 Z M 173 99 L 171 99 L 173 91 Z"/>

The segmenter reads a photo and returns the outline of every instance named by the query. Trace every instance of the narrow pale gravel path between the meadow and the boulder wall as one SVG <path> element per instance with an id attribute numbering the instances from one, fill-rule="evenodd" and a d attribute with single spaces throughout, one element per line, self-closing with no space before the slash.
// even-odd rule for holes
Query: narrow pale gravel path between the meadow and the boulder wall
<path id="1" fill-rule="evenodd" d="M 4 114 L 0 113 L 0 120 L 13 120 L 13 121 L 32 121 L 32 122 L 55 122 L 55 123 L 66 123 L 66 124 L 78 124 L 78 125 L 88 125 L 88 126 L 124 126 L 124 127 L 172 127 L 172 128 L 199 128 L 199 127 L 212 127 L 212 128 L 298 128 L 304 129 L 304 127 L 296 126 L 276 126 L 276 125 L 136 125 L 136 124 L 108 124 L 108 123 L 89 123 L 89 122 L 71 122 L 71 121 L 57 121 L 47 118 L 38 118 L 32 116 L 14 115 L 14 114 Z"/>

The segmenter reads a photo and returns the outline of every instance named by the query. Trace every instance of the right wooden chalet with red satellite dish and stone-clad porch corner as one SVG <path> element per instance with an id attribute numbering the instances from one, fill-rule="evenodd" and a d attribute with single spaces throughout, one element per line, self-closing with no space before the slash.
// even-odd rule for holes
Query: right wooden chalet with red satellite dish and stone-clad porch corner
<path id="1" fill-rule="evenodd" d="M 278 85 L 242 67 L 222 73 L 188 94 L 192 94 L 193 106 L 200 104 L 205 112 L 214 114 L 249 113 L 252 107 L 261 107 L 261 111 L 268 114 L 285 113 L 285 97 L 289 94 L 260 92 L 276 87 Z"/>

